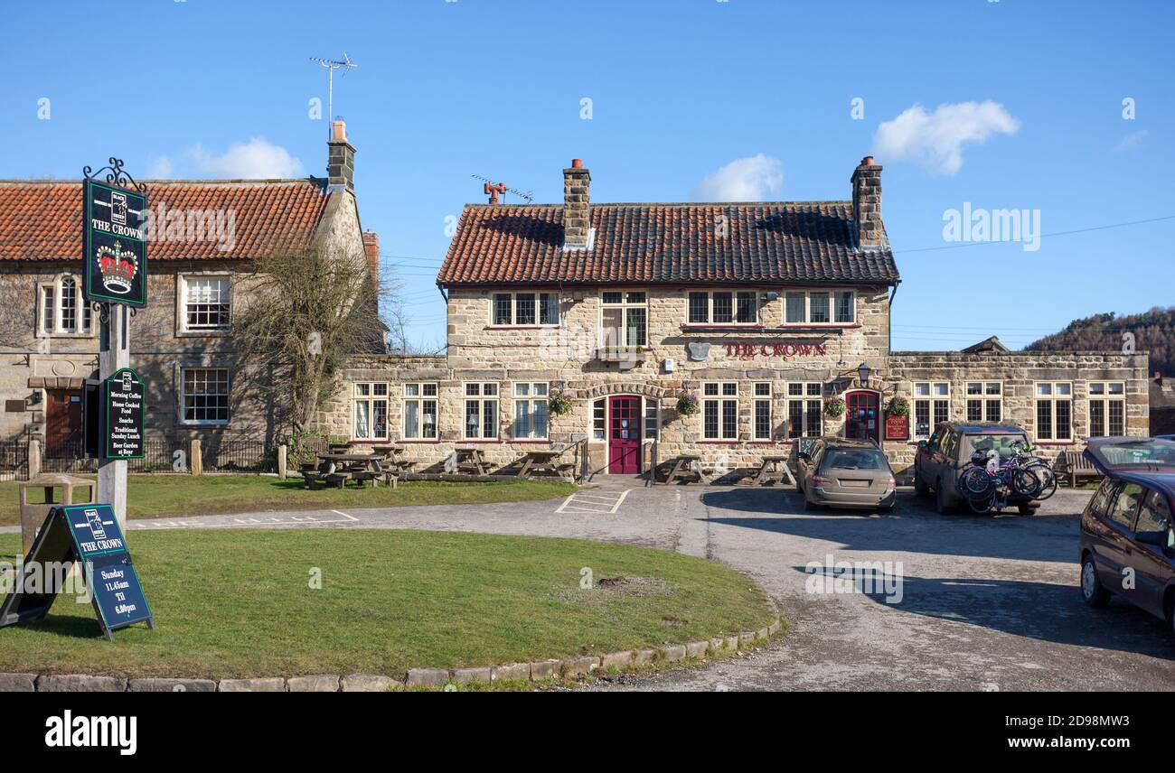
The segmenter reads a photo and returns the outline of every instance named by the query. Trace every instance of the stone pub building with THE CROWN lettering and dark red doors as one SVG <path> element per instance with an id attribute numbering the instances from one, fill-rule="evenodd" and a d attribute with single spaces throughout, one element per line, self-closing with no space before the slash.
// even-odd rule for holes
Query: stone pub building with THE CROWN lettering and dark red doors
<path id="1" fill-rule="evenodd" d="M 1146 354 L 891 351 L 901 280 L 872 157 L 845 201 L 600 204 L 579 160 L 563 177 L 562 204 L 465 206 L 437 275 L 448 354 L 357 361 L 323 426 L 422 462 L 584 439 L 622 475 L 654 442 L 733 469 L 840 435 L 900 470 L 946 419 L 1015 422 L 1048 452 L 1147 433 Z"/>

